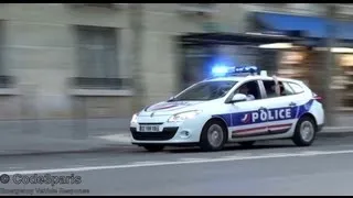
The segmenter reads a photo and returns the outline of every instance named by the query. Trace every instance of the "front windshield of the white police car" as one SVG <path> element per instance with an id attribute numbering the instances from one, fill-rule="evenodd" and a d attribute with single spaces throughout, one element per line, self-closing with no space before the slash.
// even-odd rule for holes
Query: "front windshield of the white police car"
<path id="1" fill-rule="evenodd" d="M 195 84 L 169 101 L 214 100 L 224 97 L 237 81 L 202 81 Z"/>

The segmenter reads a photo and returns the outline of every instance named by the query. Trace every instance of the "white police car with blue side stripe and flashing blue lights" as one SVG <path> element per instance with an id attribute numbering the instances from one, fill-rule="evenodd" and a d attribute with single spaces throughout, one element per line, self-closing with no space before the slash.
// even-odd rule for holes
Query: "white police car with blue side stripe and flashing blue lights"
<path id="1" fill-rule="evenodd" d="M 222 68 L 218 72 L 222 73 Z M 228 142 L 291 139 L 309 146 L 324 124 L 320 97 L 302 81 L 236 67 L 132 116 L 132 144 L 158 152 L 169 145 L 218 151 Z"/>

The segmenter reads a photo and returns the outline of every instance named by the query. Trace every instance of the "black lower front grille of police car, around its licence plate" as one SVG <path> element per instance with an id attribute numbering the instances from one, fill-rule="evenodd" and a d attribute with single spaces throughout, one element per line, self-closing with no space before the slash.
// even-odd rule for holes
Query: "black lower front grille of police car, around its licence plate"
<path id="1" fill-rule="evenodd" d="M 165 141 L 172 139 L 178 128 L 164 128 L 162 132 L 137 132 L 136 128 L 130 128 L 135 140 L 139 141 Z"/>

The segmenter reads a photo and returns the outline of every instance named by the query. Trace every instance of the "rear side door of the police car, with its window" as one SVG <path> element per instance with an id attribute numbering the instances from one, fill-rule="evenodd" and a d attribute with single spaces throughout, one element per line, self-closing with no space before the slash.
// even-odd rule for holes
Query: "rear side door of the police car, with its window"
<path id="1" fill-rule="evenodd" d="M 264 79 L 261 82 L 260 87 L 266 92 L 266 99 L 263 99 L 261 103 L 267 110 L 268 134 L 286 133 L 293 129 L 301 97 L 295 94 L 288 82 L 279 81 L 280 95 L 275 92 L 275 80 Z"/>

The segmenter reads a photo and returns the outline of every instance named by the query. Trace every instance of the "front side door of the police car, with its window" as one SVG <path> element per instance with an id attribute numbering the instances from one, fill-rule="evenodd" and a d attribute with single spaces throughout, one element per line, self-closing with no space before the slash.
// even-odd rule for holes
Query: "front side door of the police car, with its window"
<path id="1" fill-rule="evenodd" d="M 260 91 L 259 81 L 245 81 L 238 86 L 229 98 L 233 98 L 242 86 L 248 87 L 248 94 L 253 95 L 255 100 L 227 103 L 227 111 L 231 114 L 231 124 L 228 125 L 229 140 L 261 135 L 267 132 L 266 122 L 264 122 L 260 117 L 260 112 L 264 111 L 265 108 L 260 102 L 264 95 Z"/>

